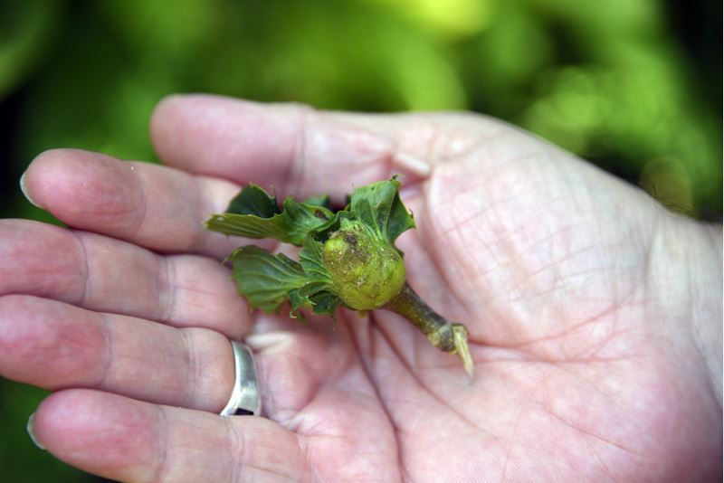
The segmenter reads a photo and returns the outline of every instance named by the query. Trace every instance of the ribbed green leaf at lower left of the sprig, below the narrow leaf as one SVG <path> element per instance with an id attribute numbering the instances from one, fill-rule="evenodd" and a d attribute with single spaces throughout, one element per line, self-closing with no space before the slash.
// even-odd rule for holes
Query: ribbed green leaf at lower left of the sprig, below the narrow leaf
<path id="1" fill-rule="evenodd" d="M 266 312 L 277 310 L 290 298 L 292 290 L 301 289 L 308 282 L 299 263 L 254 245 L 236 249 L 229 260 L 233 262 L 233 278 L 239 292 L 252 307 Z"/>

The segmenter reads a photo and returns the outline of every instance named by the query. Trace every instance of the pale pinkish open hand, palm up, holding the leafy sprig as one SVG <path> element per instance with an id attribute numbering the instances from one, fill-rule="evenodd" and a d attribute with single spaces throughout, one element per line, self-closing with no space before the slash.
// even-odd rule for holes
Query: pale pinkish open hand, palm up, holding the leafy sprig
<path id="1" fill-rule="evenodd" d="M 186 96 L 151 136 L 171 167 L 33 161 L 25 192 L 69 229 L 0 221 L 0 374 L 55 391 L 33 431 L 57 458 L 123 481 L 720 479 L 720 227 L 472 115 Z M 249 181 L 341 202 L 395 173 L 407 279 L 470 329 L 472 384 L 390 312 L 250 314 L 218 262 L 247 241 L 202 230 Z M 269 419 L 214 415 L 227 337 Z"/>

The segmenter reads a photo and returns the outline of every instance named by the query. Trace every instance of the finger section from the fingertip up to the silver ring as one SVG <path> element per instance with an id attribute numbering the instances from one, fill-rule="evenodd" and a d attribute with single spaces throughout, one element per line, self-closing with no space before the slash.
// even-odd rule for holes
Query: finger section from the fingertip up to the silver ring
<path id="1" fill-rule="evenodd" d="M 229 339 L 213 330 L 9 295 L 0 298 L 0 374 L 49 390 L 98 388 L 220 412 L 234 366 Z"/>

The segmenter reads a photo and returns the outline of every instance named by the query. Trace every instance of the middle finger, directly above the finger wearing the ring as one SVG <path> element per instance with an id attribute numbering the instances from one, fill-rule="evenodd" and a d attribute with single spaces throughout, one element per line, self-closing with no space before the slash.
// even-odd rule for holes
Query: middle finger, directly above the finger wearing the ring
<path id="1" fill-rule="evenodd" d="M 0 221 L 0 240 L 0 295 L 55 298 L 233 338 L 250 326 L 230 270 L 215 260 L 161 256 L 95 233 L 25 220 Z"/>

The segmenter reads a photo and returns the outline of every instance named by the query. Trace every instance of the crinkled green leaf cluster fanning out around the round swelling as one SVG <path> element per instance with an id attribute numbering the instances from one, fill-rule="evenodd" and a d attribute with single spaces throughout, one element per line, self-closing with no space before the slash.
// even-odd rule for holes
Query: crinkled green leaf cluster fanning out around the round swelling
<path id="1" fill-rule="evenodd" d="M 399 186 L 393 177 L 357 188 L 345 210 L 332 213 L 327 196 L 305 203 L 287 198 L 280 210 L 275 196 L 248 185 L 233 199 L 227 213 L 214 215 L 206 226 L 230 235 L 274 238 L 302 246 L 300 262 L 256 246 L 233 252 L 229 259 L 239 291 L 253 307 L 271 311 L 289 300 L 292 317 L 301 317 L 302 307 L 333 315 L 341 299 L 324 266 L 323 242 L 345 223 L 354 222 L 362 223 L 380 242 L 394 244 L 400 233 L 414 228 L 414 220 L 400 200 Z"/>

